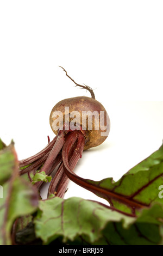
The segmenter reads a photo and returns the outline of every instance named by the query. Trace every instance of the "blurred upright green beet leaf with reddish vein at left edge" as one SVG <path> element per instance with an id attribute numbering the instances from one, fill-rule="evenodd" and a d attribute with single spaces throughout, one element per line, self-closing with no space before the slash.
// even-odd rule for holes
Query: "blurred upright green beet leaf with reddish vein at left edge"
<path id="1" fill-rule="evenodd" d="M 11 245 L 14 221 L 18 217 L 32 214 L 38 204 L 35 187 L 18 176 L 18 161 L 13 143 L 0 151 L 0 178 L 3 184 L 3 198 L 0 198 L 0 245 Z M 7 182 L 4 183 L 5 180 Z"/>

